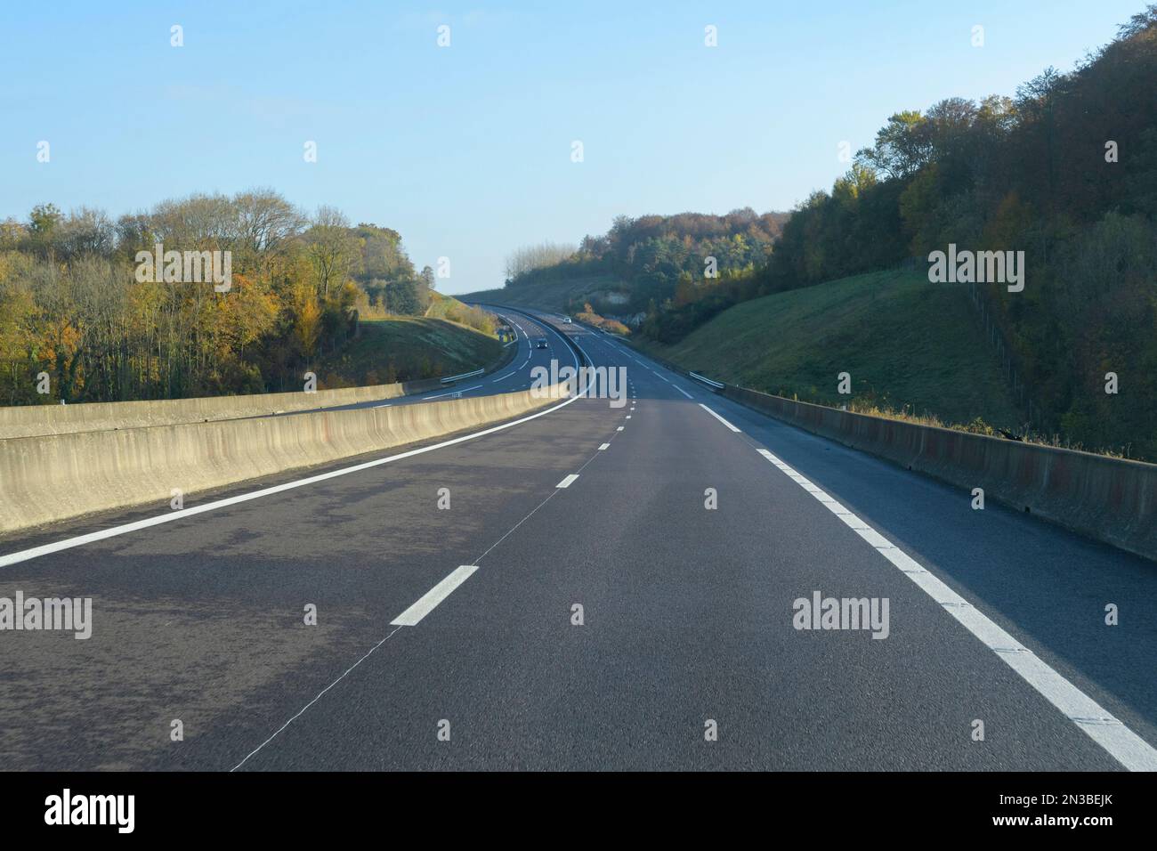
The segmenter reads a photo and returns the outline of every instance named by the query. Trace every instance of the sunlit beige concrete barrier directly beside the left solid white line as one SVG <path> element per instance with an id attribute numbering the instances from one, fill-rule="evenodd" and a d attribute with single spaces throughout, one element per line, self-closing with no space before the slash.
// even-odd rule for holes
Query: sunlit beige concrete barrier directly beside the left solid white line
<path id="1" fill-rule="evenodd" d="M 499 423 L 557 403 L 530 390 L 393 408 L 84 431 L 0 441 L 0 533 L 185 494 Z"/>

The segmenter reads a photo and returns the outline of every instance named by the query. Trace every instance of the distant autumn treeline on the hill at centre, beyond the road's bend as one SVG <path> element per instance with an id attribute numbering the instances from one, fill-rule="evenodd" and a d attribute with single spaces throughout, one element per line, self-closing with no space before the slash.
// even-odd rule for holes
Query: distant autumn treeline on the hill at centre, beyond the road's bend
<path id="1" fill-rule="evenodd" d="M 529 264 L 507 286 L 591 279 L 572 294 L 572 313 L 590 302 L 603 314 L 656 315 L 659 306 L 693 300 L 697 281 L 709 273 L 718 274 L 709 279 L 714 285 L 727 286 L 743 270 L 766 263 L 786 219 L 750 207 L 727 215 L 620 215 L 606 234 L 584 237 L 576 251 L 553 263 Z"/>

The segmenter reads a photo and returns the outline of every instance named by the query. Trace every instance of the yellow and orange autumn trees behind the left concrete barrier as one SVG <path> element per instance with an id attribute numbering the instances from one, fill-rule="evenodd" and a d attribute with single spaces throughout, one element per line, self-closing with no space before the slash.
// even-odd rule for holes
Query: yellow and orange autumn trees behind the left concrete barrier
<path id="1" fill-rule="evenodd" d="M 228 289 L 139 276 L 138 252 L 157 243 L 230 252 Z M 0 222 L 0 398 L 300 389 L 310 364 L 355 332 L 360 311 L 421 314 L 432 286 L 397 232 L 352 227 L 332 207 L 307 217 L 270 190 L 194 195 L 117 220 L 40 205 Z"/>

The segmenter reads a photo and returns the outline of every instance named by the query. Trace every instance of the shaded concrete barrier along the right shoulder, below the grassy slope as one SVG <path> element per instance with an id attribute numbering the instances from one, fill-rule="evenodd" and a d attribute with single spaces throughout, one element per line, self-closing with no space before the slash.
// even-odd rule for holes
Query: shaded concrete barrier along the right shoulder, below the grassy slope
<path id="1" fill-rule="evenodd" d="M 841 411 L 727 386 L 723 395 L 966 492 L 1157 559 L 1157 464 Z"/>

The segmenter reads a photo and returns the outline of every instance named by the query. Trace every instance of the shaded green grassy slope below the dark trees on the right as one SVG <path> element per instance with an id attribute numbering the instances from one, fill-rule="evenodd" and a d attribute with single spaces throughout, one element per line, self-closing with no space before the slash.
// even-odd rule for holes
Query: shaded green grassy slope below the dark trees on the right
<path id="1" fill-rule="evenodd" d="M 673 346 L 643 344 L 685 368 L 781 396 L 839 405 L 837 375 L 853 398 L 933 415 L 1020 418 L 986 345 L 966 289 L 922 272 L 875 272 L 743 302 Z"/>

